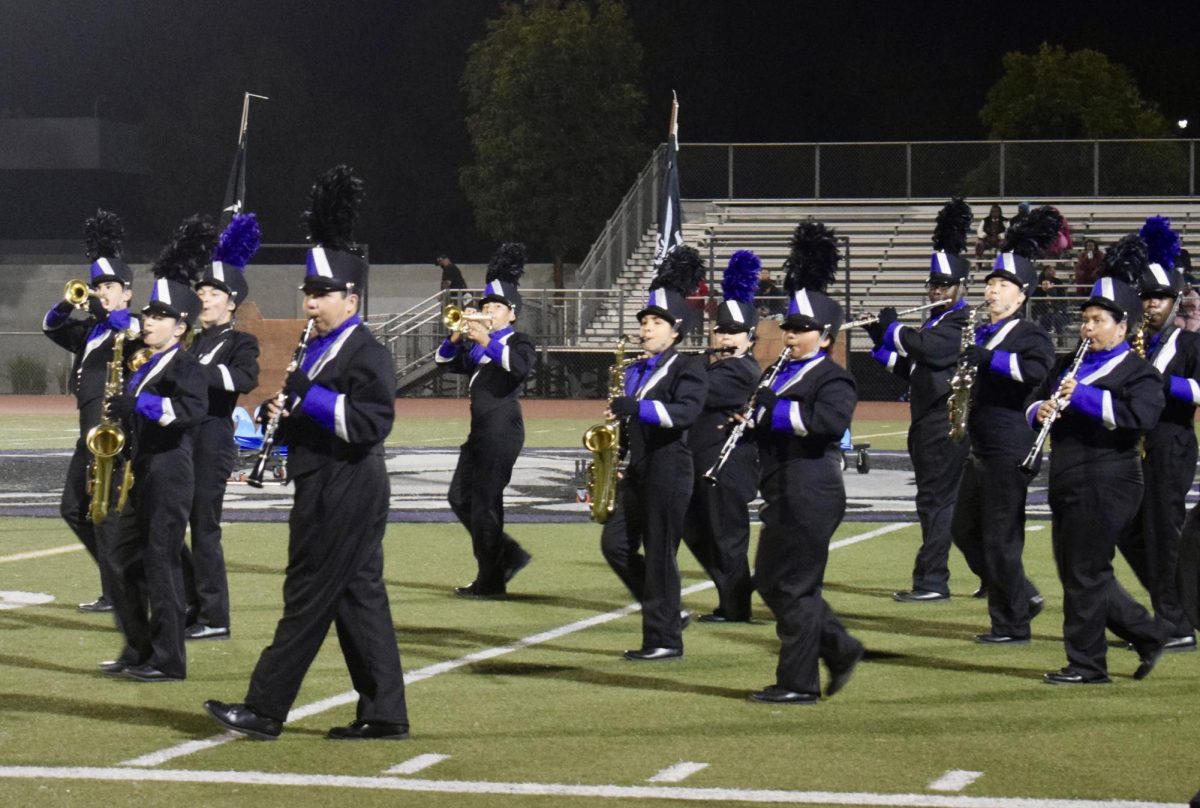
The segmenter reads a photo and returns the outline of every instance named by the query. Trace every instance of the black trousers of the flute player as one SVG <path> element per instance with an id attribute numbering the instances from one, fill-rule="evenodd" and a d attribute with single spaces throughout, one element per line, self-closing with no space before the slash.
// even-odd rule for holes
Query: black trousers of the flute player
<path id="1" fill-rule="evenodd" d="M 908 456 L 917 478 L 920 550 L 912 568 L 912 588 L 950 593 L 950 522 L 970 443 L 949 438 L 946 407 L 935 407 L 908 427 Z M 970 559 L 968 559 L 970 563 Z M 971 571 L 986 580 L 983 568 Z"/>

